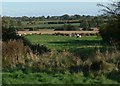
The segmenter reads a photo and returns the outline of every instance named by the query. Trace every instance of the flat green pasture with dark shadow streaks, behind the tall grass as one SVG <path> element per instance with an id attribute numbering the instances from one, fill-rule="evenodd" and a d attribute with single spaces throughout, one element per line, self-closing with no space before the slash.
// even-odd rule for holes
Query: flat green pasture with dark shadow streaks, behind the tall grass
<path id="1" fill-rule="evenodd" d="M 81 38 L 53 35 L 27 35 L 25 36 L 33 44 L 45 45 L 50 49 L 64 50 L 71 48 L 88 48 L 101 46 L 101 37 L 83 36 Z"/>

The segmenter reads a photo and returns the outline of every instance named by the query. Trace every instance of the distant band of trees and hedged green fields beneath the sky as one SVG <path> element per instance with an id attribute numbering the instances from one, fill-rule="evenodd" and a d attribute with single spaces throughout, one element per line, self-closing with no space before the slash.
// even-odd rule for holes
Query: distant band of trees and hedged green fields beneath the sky
<path id="1" fill-rule="evenodd" d="M 79 28 L 83 28 L 84 30 L 89 30 L 91 27 L 100 27 L 101 23 L 106 23 L 110 21 L 109 16 L 85 16 L 85 15 L 73 15 L 70 16 L 68 14 L 62 16 L 41 16 L 41 17 L 8 17 L 3 16 L 3 25 L 8 24 L 10 27 L 14 27 L 18 30 L 28 28 L 30 25 L 36 24 L 72 24 L 78 23 Z M 24 24 L 23 22 L 27 22 Z M 56 28 L 55 28 L 56 29 Z"/>

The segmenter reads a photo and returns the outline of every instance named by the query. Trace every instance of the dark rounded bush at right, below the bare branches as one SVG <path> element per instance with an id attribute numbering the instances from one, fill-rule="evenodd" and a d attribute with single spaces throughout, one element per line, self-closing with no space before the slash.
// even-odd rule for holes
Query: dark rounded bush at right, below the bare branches
<path id="1" fill-rule="evenodd" d="M 120 23 L 117 21 L 103 24 L 100 27 L 100 34 L 104 41 L 120 43 Z"/>

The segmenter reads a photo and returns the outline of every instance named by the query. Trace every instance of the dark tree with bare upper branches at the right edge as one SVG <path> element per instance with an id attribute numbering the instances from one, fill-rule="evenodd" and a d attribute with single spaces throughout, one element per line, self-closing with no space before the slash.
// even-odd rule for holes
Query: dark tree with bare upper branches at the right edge
<path id="1" fill-rule="evenodd" d="M 120 43 L 120 1 L 112 2 L 109 5 L 98 4 L 104 7 L 104 15 L 110 16 L 111 19 L 101 25 L 100 34 L 103 40 L 107 42 Z"/>

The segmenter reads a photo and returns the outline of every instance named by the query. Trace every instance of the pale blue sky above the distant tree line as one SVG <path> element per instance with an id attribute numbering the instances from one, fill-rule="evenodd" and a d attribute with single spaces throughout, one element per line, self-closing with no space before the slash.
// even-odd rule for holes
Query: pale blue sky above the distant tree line
<path id="1" fill-rule="evenodd" d="M 3 2 L 2 16 L 100 15 L 101 2 Z"/>

